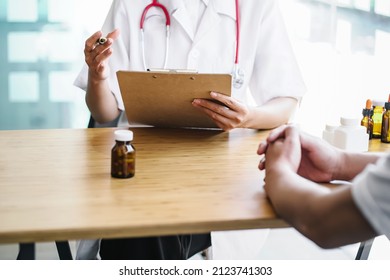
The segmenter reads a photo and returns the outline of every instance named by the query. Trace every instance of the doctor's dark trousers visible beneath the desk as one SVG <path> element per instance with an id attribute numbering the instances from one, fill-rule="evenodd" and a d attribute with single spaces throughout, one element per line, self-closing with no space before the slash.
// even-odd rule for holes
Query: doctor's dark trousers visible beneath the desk
<path id="1" fill-rule="evenodd" d="M 102 260 L 185 260 L 211 246 L 207 234 L 102 239 Z"/>

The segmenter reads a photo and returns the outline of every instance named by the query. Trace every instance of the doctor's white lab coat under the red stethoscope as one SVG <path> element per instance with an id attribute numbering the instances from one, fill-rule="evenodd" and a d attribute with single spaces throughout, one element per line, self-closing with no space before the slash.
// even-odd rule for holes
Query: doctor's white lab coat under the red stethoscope
<path id="1" fill-rule="evenodd" d="M 159 1 L 171 15 L 167 68 L 232 73 L 236 48 L 235 1 L 201 1 L 205 10 L 197 30 L 193 28 L 184 0 Z M 102 28 L 103 34 L 115 28 L 121 31 L 109 61 L 109 84 L 120 110 L 124 106 L 115 73 L 144 70 L 139 24 L 143 9 L 150 2 L 114 0 Z M 248 105 L 259 106 L 281 96 L 300 99 L 305 92 L 277 2 L 240 1 L 239 66 L 245 77 L 243 87 L 233 88 L 232 96 Z M 160 9 L 149 10 L 144 30 L 147 68 L 162 68 L 166 39 L 165 17 Z M 86 89 L 86 67 L 75 85 Z M 267 230 L 212 233 L 213 258 L 254 259 L 266 235 Z"/>

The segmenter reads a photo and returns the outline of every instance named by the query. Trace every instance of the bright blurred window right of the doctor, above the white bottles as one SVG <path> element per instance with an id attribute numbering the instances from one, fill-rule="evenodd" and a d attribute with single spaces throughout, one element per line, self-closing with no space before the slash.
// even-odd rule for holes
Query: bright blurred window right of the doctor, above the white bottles
<path id="1" fill-rule="evenodd" d="M 366 99 L 386 101 L 390 0 L 280 1 L 307 85 L 297 121 L 321 135 Z"/>

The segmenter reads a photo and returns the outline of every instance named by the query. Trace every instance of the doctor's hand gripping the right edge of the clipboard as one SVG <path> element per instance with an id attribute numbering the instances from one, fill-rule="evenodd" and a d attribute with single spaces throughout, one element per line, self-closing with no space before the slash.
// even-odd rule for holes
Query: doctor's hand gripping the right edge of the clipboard
<path id="1" fill-rule="evenodd" d="M 202 110 L 224 131 L 245 126 L 250 116 L 247 106 L 224 94 L 211 92 L 210 96 L 219 103 L 199 98 L 194 99 L 192 105 Z"/>

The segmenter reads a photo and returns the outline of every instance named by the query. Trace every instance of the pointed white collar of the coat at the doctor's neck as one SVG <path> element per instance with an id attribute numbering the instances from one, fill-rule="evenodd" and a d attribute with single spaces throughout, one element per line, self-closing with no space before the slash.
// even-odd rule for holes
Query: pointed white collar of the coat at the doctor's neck
<path id="1" fill-rule="evenodd" d="M 182 26 L 182 28 L 194 43 L 201 40 L 209 30 L 212 30 L 212 28 L 220 22 L 221 15 L 227 15 L 233 20 L 236 20 L 235 0 L 202 1 L 206 5 L 206 10 L 196 34 L 193 32 L 190 17 L 185 7 L 185 3 L 182 0 L 160 1 L 167 7 L 171 17 L 173 17 Z"/>

